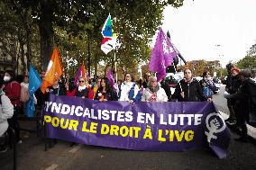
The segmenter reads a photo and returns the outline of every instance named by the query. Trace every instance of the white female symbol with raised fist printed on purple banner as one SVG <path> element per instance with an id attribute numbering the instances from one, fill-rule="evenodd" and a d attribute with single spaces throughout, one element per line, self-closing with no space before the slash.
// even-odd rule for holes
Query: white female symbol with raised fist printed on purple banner
<path id="1" fill-rule="evenodd" d="M 224 120 L 220 117 L 219 113 L 210 113 L 206 117 L 206 127 L 209 130 L 205 131 L 207 136 L 207 141 L 210 143 L 211 139 L 217 139 L 216 133 L 220 133 L 225 130 Z"/>

